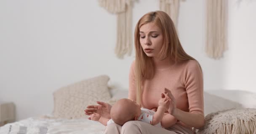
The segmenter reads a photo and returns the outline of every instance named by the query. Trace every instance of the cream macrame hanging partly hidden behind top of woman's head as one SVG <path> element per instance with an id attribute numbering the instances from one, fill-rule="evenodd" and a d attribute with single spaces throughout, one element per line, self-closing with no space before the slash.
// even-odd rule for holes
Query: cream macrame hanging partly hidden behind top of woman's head
<path id="1" fill-rule="evenodd" d="M 180 0 L 160 0 L 160 10 L 171 17 L 176 28 L 178 25 L 179 1 Z"/>

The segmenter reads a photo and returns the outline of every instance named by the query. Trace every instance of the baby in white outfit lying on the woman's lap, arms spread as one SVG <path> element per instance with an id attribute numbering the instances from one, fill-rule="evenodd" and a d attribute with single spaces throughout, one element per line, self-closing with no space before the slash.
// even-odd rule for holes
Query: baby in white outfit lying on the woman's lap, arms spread
<path id="1" fill-rule="evenodd" d="M 152 111 L 141 106 L 127 98 L 118 100 L 111 108 L 111 119 L 101 117 L 98 113 L 91 114 L 90 118 L 93 121 L 99 121 L 101 124 L 107 126 L 111 123 L 119 125 L 125 124 L 127 121 L 144 121 L 146 123 L 161 126 L 160 122 L 165 111 L 168 110 L 171 99 L 162 93 L 161 99 L 158 101 L 157 111 Z"/>

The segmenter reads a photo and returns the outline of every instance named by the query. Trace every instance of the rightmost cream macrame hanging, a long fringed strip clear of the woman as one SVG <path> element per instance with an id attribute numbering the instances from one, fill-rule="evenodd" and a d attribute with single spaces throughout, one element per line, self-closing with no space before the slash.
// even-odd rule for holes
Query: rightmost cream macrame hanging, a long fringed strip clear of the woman
<path id="1" fill-rule="evenodd" d="M 227 50 L 227 0 L 207 0 L 206 10 L 205 52 L 219 59 Z"/>

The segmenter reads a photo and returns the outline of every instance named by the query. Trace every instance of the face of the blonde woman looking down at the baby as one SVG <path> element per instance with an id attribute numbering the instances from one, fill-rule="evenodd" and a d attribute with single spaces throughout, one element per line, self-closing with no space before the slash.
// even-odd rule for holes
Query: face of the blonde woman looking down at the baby
<path id="1" fill-rule="evenodd" d="M 139 29 L 140 43 L 148 57 L 159 58 L 163 46 L 163 33 L 155 23 L 146 23 Z"/>

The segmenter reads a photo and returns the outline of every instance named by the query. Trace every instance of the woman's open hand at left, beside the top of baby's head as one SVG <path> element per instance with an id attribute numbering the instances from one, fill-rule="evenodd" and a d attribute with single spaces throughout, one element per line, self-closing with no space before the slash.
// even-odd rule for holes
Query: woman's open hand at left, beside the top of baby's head
<path id="1" fill-rule="evenodd" d="M 97 101 L 99 105 L 90 105 L 87 106 L 85 109 L 85 114 L 90 116 L 93 113 L 98 113 L 100 116 L 105 117 L 107 119 L 111 119 L 110 117 L 110 110 L 111 110 L 111 105 L 108 103 L 104 103 L 101 101 Z"/>

